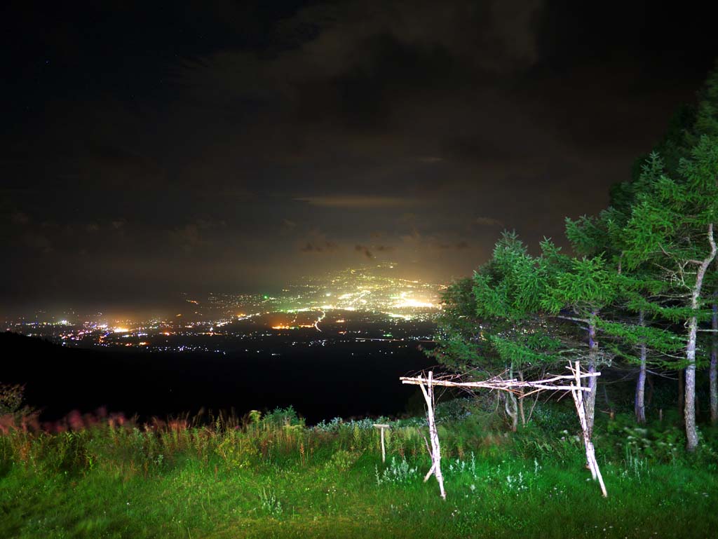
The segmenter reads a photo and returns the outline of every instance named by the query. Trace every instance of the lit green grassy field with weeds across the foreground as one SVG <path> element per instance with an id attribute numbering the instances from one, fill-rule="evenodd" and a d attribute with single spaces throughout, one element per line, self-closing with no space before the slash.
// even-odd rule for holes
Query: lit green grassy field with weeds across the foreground
<path id="1" fill-rule="evenodd" d="M 211 426 L 116 420 L 0 436 L 2 538 L 715 537 L 717 433 L 694 455 L 671 421 L 601 418 L 609 497 L 584 467 L 569 408 L 505 432 L 461 403 L 439 411 L 447 500 L 421 419 L 306 428 L 291 409 Z"/>

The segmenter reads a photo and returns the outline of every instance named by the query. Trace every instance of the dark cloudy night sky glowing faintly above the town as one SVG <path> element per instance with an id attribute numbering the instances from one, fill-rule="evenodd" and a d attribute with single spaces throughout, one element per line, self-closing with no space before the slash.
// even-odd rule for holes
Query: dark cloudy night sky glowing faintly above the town
<path id="1" fill-rule="evenodd" d="M 718 57 L 697 3 L 93 4 L 0 8 L 0 311 L 466 275 L 605 207 Z"/>

